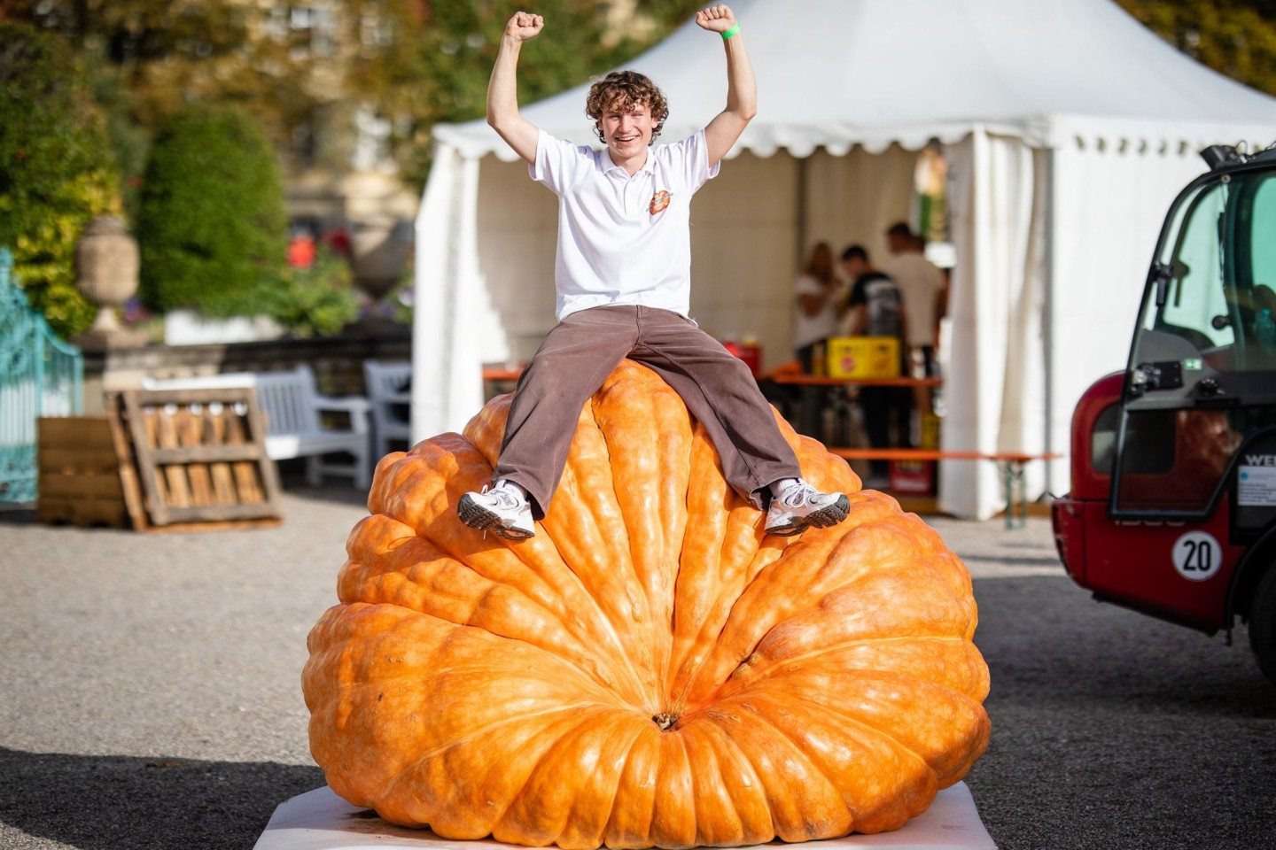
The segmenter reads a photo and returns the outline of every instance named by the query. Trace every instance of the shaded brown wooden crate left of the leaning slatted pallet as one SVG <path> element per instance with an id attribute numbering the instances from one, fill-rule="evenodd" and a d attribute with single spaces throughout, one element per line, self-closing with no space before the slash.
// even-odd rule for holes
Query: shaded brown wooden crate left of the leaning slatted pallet
<path id="1" fill-rule="evenodd" d="M 70 525 L 131 525 L 107 417 L 41 418 L 37 422 L 36 520 Z"/>

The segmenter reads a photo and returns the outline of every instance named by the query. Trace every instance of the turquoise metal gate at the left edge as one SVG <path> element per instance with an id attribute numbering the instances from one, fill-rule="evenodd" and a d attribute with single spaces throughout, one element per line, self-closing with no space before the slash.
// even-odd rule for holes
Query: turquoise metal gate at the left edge
<path id="1" fill-rule="evenodd" d="M 36 421 L 84 409 L 84 358 L 48 329 L 0 247 L 0 502 L 36 500 Z"/>

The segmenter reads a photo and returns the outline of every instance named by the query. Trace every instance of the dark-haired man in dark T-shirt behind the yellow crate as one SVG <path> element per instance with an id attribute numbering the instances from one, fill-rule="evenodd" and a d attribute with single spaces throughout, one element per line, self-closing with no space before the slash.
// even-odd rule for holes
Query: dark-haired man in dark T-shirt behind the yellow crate
<path id="1" fill-rule="evenodd" d="M 852 245 L 842 251 L 842 269 L 851 280 L 851 294 L 847 298 L 846 330 L 851 336 L 893 336 L 900 340 L 901 375 L 907 362 L 909 312 L 903 303 L 900 287 L 889 277 L 882 274 L 869 263 L 869 252 L 861 245 Z M 874 449 L 911 445 L 909 414 L 911 410 L 911 391 L 897 386 L 863 386 L 859 393 L 860 409 L 864 412 L 864 429 L 869 445 Z M 892 422 L 896 437 L 892 438 Z M 872 474 L 865 487 L 878 489 L 886 486 L 889 464 L 886 460 L 870 461 Z"/>

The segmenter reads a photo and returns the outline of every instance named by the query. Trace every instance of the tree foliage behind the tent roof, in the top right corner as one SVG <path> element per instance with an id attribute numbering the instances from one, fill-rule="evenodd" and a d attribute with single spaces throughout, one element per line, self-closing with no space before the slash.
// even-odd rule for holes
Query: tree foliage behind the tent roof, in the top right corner
<path id="1" fill-rule="evenodd" d="M 1179 51 L 1276 96 L 1276 1 L 1118 0 Z"/>

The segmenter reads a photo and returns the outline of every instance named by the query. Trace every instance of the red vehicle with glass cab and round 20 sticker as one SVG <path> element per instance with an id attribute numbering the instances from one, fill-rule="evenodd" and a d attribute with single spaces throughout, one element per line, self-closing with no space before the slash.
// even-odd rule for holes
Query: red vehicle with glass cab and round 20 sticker
<path id="1" fill-rule="evenodd" d="M 1072 419 L 1055 543 L 1095 599 L 1248 623 L 1276 682 L 1276 150 L 1205 152 L 1170 208 L 1124 372 Z"/>

